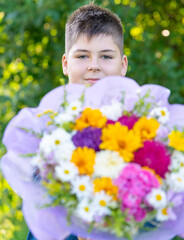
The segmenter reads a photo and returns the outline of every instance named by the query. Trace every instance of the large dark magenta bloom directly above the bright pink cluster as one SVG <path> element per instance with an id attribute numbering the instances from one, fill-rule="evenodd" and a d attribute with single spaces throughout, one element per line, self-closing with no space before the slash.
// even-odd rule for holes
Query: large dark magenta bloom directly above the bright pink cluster
<path id="1" fill-rule="evenodd" d="M 134 162 L 142 167 L 147 166 L 160 175 L 162 178 L 168 172 L 170 155 L 165 145 L 157 141 L 145 141 L 143 148 L 134 155 Z"/>

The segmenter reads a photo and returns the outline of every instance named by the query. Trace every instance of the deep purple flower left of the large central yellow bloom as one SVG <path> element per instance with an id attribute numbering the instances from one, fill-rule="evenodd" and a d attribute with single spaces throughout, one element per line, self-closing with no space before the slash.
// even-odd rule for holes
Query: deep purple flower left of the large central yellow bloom
<path id="1" fill-rule="evenodd" d="M 78 131 L 73 137 L 72 141 L 76 147 L 88 147 L 93 148 L 95 151 L 99 151 L 99 145 L 101 141 L 102 130 L 100 128 L 87 127 L 82 131 Z"/>

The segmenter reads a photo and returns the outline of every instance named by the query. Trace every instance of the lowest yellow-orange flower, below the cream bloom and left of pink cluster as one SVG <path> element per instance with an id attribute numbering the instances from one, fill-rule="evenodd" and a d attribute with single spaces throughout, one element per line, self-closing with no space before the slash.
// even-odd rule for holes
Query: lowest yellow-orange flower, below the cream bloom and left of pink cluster
<path id="1" fill-rule="evenodd" d="M 118 187 L 113 185 L 111 178 L 96 178 L 93 181 L 93 185 L 94 192 L 105 191 L 106 194 L 113 196 L 114 200 L 117 198 Z"/>

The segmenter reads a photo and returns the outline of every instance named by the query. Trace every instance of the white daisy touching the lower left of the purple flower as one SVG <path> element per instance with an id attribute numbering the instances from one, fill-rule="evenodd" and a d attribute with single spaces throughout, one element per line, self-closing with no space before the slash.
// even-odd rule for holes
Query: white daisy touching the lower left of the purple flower
<path id="1" fill-rule="evenodd" d="M 62 161 L 70 161 L 75 146 L 72 141 L 62 144 L 59 148 L 54 151 L 54 159 L 57 163 Z"/>

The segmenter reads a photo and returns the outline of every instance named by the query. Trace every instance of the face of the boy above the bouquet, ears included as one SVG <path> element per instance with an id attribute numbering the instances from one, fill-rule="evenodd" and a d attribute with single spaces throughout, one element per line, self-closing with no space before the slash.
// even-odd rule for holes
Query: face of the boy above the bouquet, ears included
<path id="1" fill-rule="evenodd" d="M 125 76 L 128 61 L 111 36 L 98 35 L 88 40 L 86 35 L 80 35 L 63 55 L 62 65 L 69 83 L 93 84 L 106 76 Z"/>

